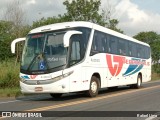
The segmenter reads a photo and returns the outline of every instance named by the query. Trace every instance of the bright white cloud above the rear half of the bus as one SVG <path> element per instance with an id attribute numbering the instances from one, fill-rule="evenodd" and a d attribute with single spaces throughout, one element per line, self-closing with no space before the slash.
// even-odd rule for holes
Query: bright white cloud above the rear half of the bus
<path id="1" fill-rule="evenodd" d="M 155 31 L 160 33 L 160 14 L 142 10 L 130 0 L 121 0 L 116 6 L 119 27 L 127 35 L 133 36 L 142 31 Z"/>

